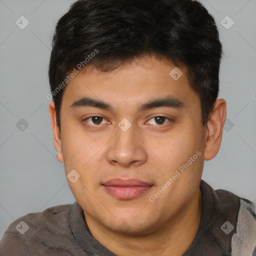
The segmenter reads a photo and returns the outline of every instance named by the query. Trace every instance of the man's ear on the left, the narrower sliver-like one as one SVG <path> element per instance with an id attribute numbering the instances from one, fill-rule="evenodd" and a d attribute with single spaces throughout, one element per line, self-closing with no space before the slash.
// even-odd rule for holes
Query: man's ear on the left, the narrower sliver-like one
<path id="1" fill-rule="evenodd" d="M 53 101 L 50 101 L 49 103 L 49 114 L 50 114 L 53 144 L 57 151 L 57 159 L 60 162 L 64 162 L 62 151 L 61 151 L 61 139 L 60 139 L 59 129 L 58 129 L 57 120 L 56 120 L 55 104 Z"/>

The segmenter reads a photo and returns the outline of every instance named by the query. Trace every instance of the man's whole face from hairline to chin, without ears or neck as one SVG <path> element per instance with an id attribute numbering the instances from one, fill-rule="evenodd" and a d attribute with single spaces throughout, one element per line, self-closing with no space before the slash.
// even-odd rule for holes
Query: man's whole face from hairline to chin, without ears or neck
<path id="1" fill-rule="evenodd" d="M 195 198 L 205 129 L 186 69 L 174 80 L 174 67 L 144 57 L 91 68 L 64 90 L 58 157 L 66 175 L 75 170 L 67 181 L 78 204 L 110 230 L 157 229 Z"/>

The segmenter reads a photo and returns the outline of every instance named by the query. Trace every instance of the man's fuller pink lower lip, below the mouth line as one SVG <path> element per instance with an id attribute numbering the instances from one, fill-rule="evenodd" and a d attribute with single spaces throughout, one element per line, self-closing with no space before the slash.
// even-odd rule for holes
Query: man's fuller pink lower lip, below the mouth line
<path id="1" fill-rule="evenodd" d="M 133 199 L 148 191 L 152 186 L 104 186 L 106 191 L 118 199 Z"/>

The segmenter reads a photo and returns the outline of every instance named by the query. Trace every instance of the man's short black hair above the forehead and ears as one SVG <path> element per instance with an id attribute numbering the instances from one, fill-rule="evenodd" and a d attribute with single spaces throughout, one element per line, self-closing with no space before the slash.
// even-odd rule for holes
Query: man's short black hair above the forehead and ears
<path id="1" fill-rule="evenodd" d="M 77 0 L 57 22 L 49 83 L 60 130 L 70 72 L 92 65 L 111 71 L 135 58 L 165 57 L 184 65 L 200 98 L 205 125 L 219 90 L 222 45 L 214 18 L 196 0 Z M 78 70 L 77 70 L 78 69 Z M 70 74 L 71 75 L 71 74 Z"/>

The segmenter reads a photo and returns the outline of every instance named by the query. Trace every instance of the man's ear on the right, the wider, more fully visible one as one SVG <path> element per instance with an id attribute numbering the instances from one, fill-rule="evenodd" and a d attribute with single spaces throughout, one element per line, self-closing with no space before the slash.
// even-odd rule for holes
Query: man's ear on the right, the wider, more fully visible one
<path id="1" fill-rule="evenodd" d="M 223 98 L 219 98 L 214 103 L 214 108 L 206 125 L 204 160 L 210 160 L 217 154 L 225 119 L 226 101 Z"/>

